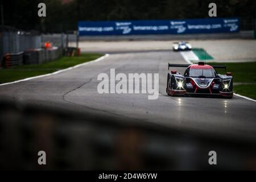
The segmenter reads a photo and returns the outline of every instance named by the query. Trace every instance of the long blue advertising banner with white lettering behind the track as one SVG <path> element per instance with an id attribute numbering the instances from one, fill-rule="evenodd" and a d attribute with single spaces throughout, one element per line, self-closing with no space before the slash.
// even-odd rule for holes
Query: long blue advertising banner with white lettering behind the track
<path id="1" fill-rule="evenodd" d="M 238 32 L 238 18 L 184 20 L 121 20 L 78 23 L 80 36 L 86 35 L 146 35 L 146 34 L 207 34 Z"/>

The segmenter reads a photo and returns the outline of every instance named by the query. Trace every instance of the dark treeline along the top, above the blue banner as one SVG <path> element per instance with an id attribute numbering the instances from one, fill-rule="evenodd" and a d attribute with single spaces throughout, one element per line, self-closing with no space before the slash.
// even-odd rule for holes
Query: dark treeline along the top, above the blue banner
<path id="1" fill-rule="evenodd" d="M 47 17 L 38 17 L 38 3 Z M 7 26 L 23 30 L 63 32 L 76 30 L 78 20 L 138 20 L 209 18 L 208 5 L 217 4 L 218 17 L 255 19 L 255 0 L 4 0 Z"/>

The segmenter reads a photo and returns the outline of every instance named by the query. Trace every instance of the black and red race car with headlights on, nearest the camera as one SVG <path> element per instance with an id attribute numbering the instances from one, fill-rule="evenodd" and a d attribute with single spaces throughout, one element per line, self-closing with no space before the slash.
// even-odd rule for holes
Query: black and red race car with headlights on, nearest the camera
<path id="1" fill-rule="evenodd" d="M 214 68 L 226 66 L 210 66 L 204 62 L 198 64 L 168 64 L 170 67 L 185 67 L 184 75 L 172 70 L 168 73 L 166 92 L 169 96 L 182 96 L 192 94 L 209 94 L 233 97 L 233 77 L 232 73 L 226 75 L 217 74 Z"/>

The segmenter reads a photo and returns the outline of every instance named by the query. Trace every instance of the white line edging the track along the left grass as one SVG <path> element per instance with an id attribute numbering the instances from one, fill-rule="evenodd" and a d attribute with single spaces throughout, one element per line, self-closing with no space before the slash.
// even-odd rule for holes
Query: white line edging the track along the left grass
<path id="1" fill-rule="evenodd" d="M 61 73 L 61 72 L 65 72 L 65 71 L 69 71 L 71 69 L 75 69 L 75 68 L 79 68 L 81 66 L 84 66 L 84 65 L 87 65 L 87 64 L 92 64 L 92 63 L 97 63 L 98 61 L 101 61 L 101 60 L 104 60 L 106 57 L 108 57 L 109 54 L 105 54 L 104 56 L 101 56 L 99 57 L 98 59 L 96 60 L 93 60 L 93 61 L 89 61 L 89 62 L 86 62 L 86 63 L 82 63 L 82 64 L 77 64 L 73 67 L 69 67 L 69 68 L 66 68 L 66 69 L 61 69 L 60 71 L 56 71 L 56 72 L 53 72 L 53 73 L 48 73 L 46 75 L 39 75 L 39 76 L 35 76 L 35 77 L 30 77 L 30 78 L 25 78 L 23 80 L 17 80 L 17 81 L 13 81 L 13 82 L 8 82 L 8 83 L 5 83 L 5 84 L 0 84 L 0 86 L 3 86 L 3 85 L 9 85 L 9 84 L 15 84 L 15 83 L 18 83 L 18 82 L 22 82 L 22 81 L 28 81 L 28 80 L 32 80 L 32 79 L 35 79 L 35 78 L 41 78 L 41 77 L 45 77 L 45 76 L 51 76 L 51 75 L 56 75 L 58 73 Z"/>

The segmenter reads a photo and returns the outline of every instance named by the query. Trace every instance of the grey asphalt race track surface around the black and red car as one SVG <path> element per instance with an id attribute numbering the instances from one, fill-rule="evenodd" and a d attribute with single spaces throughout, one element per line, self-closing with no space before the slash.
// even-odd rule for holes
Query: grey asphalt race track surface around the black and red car
<path id="1" fill-rule="evenodd" d="M 180 53 L 143 51 L 112 53 L 104 60 L 16 84 L 0 86 L 1 98 L 52 105 L 82 113 L 112 115 L 180 131 L 256 140 L 256 103 L 233 99 L 170 97 L 166 94 L 168 62 L 187 64 Z M 99 73 L 159 73 L 159 98 L 147 94 L 99 94 Z M 184 68 L 177 68 L 183 73 Z"/>

